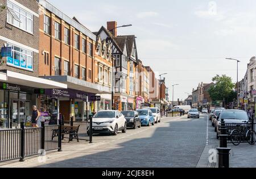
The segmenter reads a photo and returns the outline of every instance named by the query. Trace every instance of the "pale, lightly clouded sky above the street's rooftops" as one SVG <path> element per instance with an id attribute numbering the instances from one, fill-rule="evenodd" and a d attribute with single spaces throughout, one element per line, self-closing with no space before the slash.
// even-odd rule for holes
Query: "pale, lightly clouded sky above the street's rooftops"
<path id="1" fill-rule="evenodd" d="M 70 17 L 76 16 L 90 31 L 115 20 L 118 35 L 137 37 L 138 57 L 157 73 L 168 73 L 166 85 L 175 86 L 174 100 L 185 99 L 201 82 L 216 74 L 237 80 L 245 76 L 256 51 L 254 0 L 48 0 Z M 72 2 L 72 3 L 71 3 Z"/>

